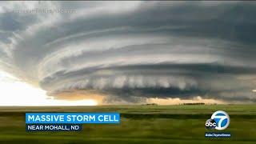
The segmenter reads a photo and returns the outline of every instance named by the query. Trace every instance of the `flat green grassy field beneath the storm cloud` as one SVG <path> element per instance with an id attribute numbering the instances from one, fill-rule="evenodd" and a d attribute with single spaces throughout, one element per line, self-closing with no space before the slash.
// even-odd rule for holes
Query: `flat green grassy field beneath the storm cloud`
<path id="1" fill-rule="evenodd" d="M 231 138 L 205 138 L 206 119 L 230 114 Z M 119 112 L 121 124 L 84 124 L 82 132 L 25 131 L 26 112 Z M 256 143 L 255 105 L 0 107 L 2 143 Z"/>

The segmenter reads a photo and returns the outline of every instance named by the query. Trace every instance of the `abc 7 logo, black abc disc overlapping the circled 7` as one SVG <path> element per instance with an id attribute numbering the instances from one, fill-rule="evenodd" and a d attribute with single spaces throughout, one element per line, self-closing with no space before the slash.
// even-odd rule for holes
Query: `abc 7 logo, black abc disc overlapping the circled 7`
<path id="1" fill-rule="evenodd" d="M 218 110 L 206 121 L 208 130 L 225 130 L 230 124 L 230 116 L 225 111 Z"/>

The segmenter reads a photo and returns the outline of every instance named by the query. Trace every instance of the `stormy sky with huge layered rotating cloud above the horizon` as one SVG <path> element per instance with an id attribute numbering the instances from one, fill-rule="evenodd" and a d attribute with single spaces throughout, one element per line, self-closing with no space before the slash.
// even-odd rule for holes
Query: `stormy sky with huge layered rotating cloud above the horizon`
<path id="1" fill-rule="evenodd" d="M 0 105 L 256 102 L 256 2 L 0 2 Z"/>

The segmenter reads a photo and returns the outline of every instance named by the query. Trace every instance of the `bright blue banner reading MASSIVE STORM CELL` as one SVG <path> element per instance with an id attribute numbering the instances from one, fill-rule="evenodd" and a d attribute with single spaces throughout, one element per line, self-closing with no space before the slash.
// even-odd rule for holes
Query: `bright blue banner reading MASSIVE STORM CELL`
<path id="1" fill-rule="evenodd" d="M 26 113 L 26 123 L 120 123 L 119 113 Z"/>

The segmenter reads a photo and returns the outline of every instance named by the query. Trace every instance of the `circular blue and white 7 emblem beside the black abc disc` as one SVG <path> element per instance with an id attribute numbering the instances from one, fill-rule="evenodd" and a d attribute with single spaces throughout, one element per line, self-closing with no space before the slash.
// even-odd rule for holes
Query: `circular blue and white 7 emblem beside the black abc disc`
<path id="1" fill-rule="evenodd" d="M 230 116 L 225 111 L 218 110 L 211 115 L 212 120 L 216 122 L 216 130 L 225 130 L 230 125 Z"/>

